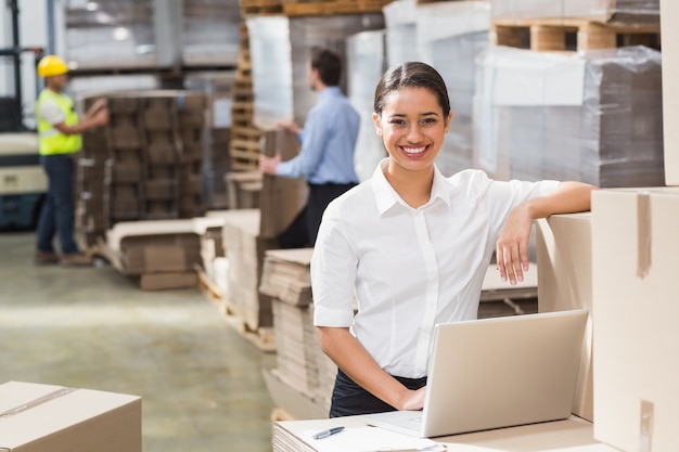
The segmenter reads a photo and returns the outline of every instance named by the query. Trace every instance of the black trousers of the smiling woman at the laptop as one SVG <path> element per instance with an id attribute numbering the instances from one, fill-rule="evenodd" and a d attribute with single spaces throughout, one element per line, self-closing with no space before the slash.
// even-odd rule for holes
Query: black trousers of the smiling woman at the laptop
<path id="1" fill-rule="evenodd" d="M 405 378 L 395 376 L 394 378 L 399 380 L 408 389 L 414 390 L 426 386 L 426 377 Z M 358 386 L 344 372 L 337 371 L 335 387 L 332 391 L 330 417 L 383 413 L 386 411 L 396 411 L 396 409 Z"/>

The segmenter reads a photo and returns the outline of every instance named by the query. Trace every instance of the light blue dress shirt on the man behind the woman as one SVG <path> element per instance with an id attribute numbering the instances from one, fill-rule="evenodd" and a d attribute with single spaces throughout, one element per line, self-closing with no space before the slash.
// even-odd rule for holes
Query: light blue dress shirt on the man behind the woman
<path id="1" fill-rule="evenodd" d="M 298 134 L 299 154 L 281 162 L 276 175 L 304 178 L 312 184 L 356 183 L 354 148 L 360 115 L 338 87 L 328 87 L 318 94 Z"/>

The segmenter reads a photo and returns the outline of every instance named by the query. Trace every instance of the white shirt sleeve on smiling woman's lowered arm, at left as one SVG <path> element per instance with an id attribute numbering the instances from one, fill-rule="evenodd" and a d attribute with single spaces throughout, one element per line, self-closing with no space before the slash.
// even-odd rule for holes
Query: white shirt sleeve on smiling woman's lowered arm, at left
<path id="1" fill-rule="evenodd" d="M 336 203 L 331 203 L 311 257 L 316 326 L 349 327 L 354 323 L 357 258 L 347 240 Z"/>

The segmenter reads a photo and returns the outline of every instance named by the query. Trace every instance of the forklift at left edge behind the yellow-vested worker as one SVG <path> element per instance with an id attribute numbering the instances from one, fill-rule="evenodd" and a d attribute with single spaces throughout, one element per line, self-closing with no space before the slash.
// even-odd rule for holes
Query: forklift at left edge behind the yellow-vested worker
<path id="1" fill-rule="evenodd" d="M 11 65 L 14 93 L 0 93 L 0 230 L 35 228 L 48 185 L 40 166 L 38 135 L 24 124 L 21 78 L 22 54 L 33 53 L 37 66 L 43 50 L 20 47 L 17 0 L 8 1 L 8 7 L 12 47 L 0 49 L 0 63 Z M 39 81 L 36 87 L 39 92 Z"/>

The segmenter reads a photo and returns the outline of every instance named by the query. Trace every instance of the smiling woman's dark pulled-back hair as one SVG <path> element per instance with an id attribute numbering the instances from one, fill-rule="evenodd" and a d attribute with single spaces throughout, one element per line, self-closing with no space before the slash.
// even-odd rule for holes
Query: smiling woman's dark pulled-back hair
<path id="1" fill-rule="evenodd" d="M 432 91 L 444 111 L 444 118 L 450 113 L 450 100 L 446 82 L 438 72 L 425 63 L 408 62 L 390 67 L 375 88 L 374 111 L 381 115 L 384 109 L 385 98 L 399 88 L 426 88 Z"/>

